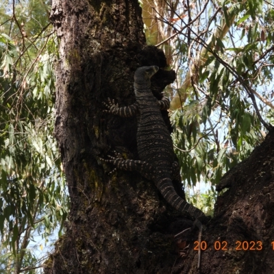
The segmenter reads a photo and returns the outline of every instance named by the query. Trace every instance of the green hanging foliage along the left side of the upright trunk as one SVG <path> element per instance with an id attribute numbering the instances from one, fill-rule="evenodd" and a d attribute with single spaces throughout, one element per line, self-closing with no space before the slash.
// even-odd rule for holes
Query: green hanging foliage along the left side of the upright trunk
<path id="1" fill-rule="evenodd" d="M 29 243 L 61 233 L 69 206 L 53 138 L 58 39 L 42 1 L 0 13 L 0 273 L 35 273 Z"/>

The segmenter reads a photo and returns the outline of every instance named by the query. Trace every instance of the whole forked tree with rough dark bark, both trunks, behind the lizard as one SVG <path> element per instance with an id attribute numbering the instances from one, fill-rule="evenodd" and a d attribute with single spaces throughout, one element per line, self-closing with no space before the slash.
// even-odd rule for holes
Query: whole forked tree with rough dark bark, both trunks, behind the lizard
<path id="1" fill-rule="evenodd" d="M 145 46 L 138 1 L 55 0 L 51 20 L 60 37 L 55 136 L 66 173 L 71 211 L 66 233 L 56 242 L 55 253 L 45 263 L 45 273 L 199 273 L 197 251 L 193 250 L 197 232 L 184 234 L 179 242 L 173 239 L 174 234 L 190 227 L 192 222 L 167 205 L 153 182 L 133 172 L 116 171 L 108 175 L 112 166 L 99 160 L 114 150 L 126 158 L 138 159 L 136 118 L 103 113 L 103 101 L 110 97 L 120 106 L 134 103 L 133 76 L 140 66 L 162 68 L 151 79 L 158 99 L 164 87 L 175 79 L 173 71 L 163 70 L 166 60 L 162 51 Z M 162 114 L 170 127 L 167 112 Z M 269 146 L 269 163 L 260 172 L 265 173 L 256 173 L 253 179 L 249 174 L 247 181 L 244 176 L 234 180 L 231 190 L 223 196 L 225 199 L 219 198 L 216 217 L 206 227 L 203 240 L 212 247 L 217 240 L 257 242 L 266 240 L 267 234 L 267 247 L 265 243 L 263 251 L 208 249 L 202 253 L 201 273 L 236 273 L 238 269 L 239 273 L 249 273 L 241 271 L 247 266 L 271 266 L 268 256 L 273 256 L 273 229 L 269 226 L 272 212 L 268 210 L 273 197 L 272 186 L 266 183 L 273 182 L 270 170 L 274 149 L 270 147 L 270 137 L 264 143 Z M 253 163 L 256 160 L 258 157 Z M 229 174 L 229 178 L 234 178 L 234 173 Z M 264 188 L 260 176 L 267 177 Z M 255 178 L 256 184 L 252 186 Z M 176 188 L 183 196 L 179 184 Z M 251 190 L 256 196 L 251 196 Z M 258 190 L 267 199 L 259 197 Z M 242 197 L 246 197 L 244 208 L 234 208 L 232 203 L 240 205 Z M 260 233 L 252 227 L 259 227 Z M 184 249 L 188 243 L 190 247 Z M 253 258 L 256 266 L 250 263 Z M 212 267 L 215 272 L 210 272 Z"/>

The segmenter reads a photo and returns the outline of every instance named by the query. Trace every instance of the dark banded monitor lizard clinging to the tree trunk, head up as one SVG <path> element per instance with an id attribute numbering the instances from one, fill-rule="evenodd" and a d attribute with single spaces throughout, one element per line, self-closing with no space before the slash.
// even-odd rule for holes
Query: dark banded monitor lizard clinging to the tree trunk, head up
<path id="1" fill-rule="evenodd" d="M 195 218 L 201 237 L 202 224 L 199 219 L 205 215 L 201 210 L 190 205 L 179 197 L 172 180 L 180 178 L 179 164 L 175 160 L 173 142 L 160 110 L 169 109 L 169 99 L 163 97 L 158 101 L 151 92 L 151 76 L 158 71 L 158 66 L 142 66 L 134 75 L 134 92 L 136 102 L 119 108 L 114 100 L 104 103 L 109 112 L 122 117 L 138 115 L 137 149 L 140 160 L 124 160 L 123 158 L 101 159 L 110 162 L 118 169 L 138 171 L 143 177 L 151 179 L 162 196 L 173 208 L 180 212 L 188 212 Z M 200 239 L 199 239 L 200 240 Z M 199 266 L 199 262 L 198 262 Z"/>

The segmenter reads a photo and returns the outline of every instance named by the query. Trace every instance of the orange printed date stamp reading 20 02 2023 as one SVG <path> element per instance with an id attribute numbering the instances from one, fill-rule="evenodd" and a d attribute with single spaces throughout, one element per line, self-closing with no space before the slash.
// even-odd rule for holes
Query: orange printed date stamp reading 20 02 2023
<path id="1" fill-rule="evenodd" d="M 262 250 L 262 242 L 260 240 L 236 240 L 232 245 L 229 245 L 226 240 L 216 240 L 212 246 L 209 246 L 208 243 L 202 240 L 200 243 L 199 241 L 194 242 L 194 250 L 202 250 L 205 251 L 207 249 L 214 249 L 214 250 L 221 250 L 221 251 L 229 251 L 229 250 L 236 250 L 236 251 L 260 251 Z M 272 249 L 274 250 L 274 241 L 271 242 Z"/>

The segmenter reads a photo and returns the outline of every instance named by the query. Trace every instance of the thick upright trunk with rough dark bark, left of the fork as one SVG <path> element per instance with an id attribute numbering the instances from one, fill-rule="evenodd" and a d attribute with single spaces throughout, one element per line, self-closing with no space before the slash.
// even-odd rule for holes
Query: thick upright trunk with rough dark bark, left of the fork
<path id="1" fill-rule="evenodd" d="M 176 258 L 167 228 L 179 214 L 152 182 L 138 173 L 108 175 L 111 166 L 99 158 L 114 149 L 138 158 L 136 118 L 104 114 L 103 101 L 134 103 L 134 72 L 140 66 L 160 67 L 151 79 L 158 99 L 175 73 L 163 70 L 162 51 L 145 46 L 137 0 L 53 1 L 51 20 L 60 37 L 55 136 L 71 211 L 45 273 L 166 273 Z M 163 115 L 171 127 L 167 112 Z"/>

